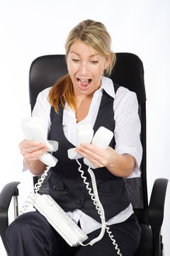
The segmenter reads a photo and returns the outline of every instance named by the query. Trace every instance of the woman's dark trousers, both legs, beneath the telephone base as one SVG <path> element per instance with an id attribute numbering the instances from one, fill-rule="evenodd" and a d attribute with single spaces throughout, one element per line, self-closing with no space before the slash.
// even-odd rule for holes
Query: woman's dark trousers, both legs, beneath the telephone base
<path id="1" fill-rule="evenodd" d="M 140 242 L 140 226 L 134 214 L 123 223 L 110 226 L 114 238 L 123 256 L 135 255 Z M 89 239 L 96 238 L 100 233 L 95 230 Z M 117 251 L 105 233 L 102 240 L 93 246 L 70 247 L 38 211 L 20 215 L 8 226 L 6 242 L 10 256 L 114 256 Z"/>

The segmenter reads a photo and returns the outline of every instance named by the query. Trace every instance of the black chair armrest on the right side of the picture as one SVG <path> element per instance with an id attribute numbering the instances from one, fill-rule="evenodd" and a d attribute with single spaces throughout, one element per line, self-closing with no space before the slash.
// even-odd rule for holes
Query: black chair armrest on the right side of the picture
<path id="1" fill-rule="evenodd" d="M 166 196 L 167 178 L 157 178 L 154 181 L 149 202 L 149 224 L 152 228 L 154 256 L 161 255 L 160 231 L 164 219 L 164 201 Z"/>

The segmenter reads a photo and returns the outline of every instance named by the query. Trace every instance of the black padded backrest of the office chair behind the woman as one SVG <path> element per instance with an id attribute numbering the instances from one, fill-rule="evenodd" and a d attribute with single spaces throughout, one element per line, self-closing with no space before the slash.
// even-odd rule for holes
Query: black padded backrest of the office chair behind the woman
<path id="1" fill-rule="evenodd" d="M 35 105 L 38 93 L 55 84 L 58 78 L 67 74 L 65 55 L 44 55 L 36 58 L 30 66 L 29 92 L 31 110 Z M 135 209 L 147 208 L 146 178 L 146 95 L 144 69 L 142 61 L 132 53 L 116 53 L 116 63 L 111 77 L 113 82 L 127 87 L 137 94 L 141 120 L 141 142 L 143 156 L 141 164 L 142 178 L 125 179 L 126 187 Z"/>

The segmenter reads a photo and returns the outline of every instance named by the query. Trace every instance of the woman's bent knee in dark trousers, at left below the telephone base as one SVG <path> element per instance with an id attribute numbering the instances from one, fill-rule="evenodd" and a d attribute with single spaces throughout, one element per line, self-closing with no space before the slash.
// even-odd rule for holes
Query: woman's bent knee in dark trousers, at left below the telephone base
<path id="1" fill-rule="evenodd" d="M 6 242 L 12 256 L 53 255 L 57 244 L 52 227 L 38 212 L 16 218 L 6 230 Z"/>

